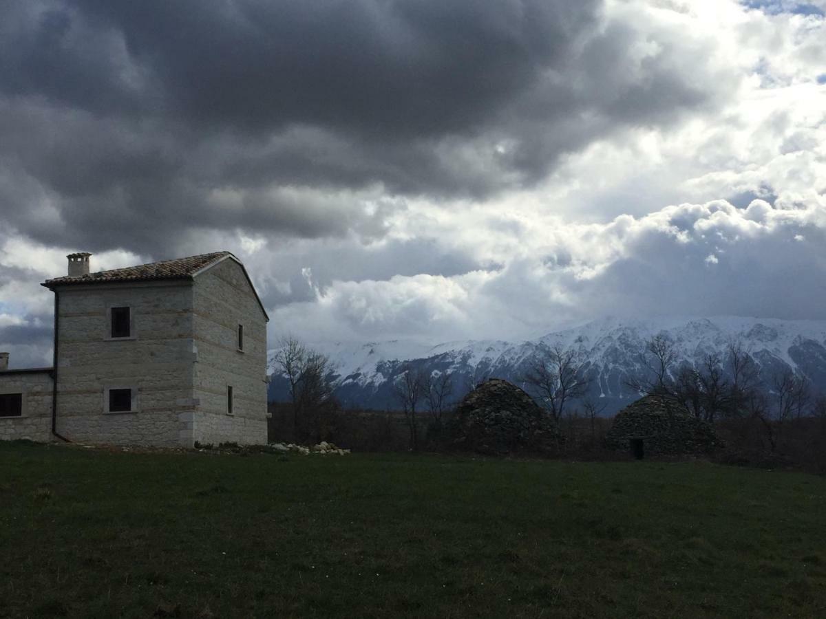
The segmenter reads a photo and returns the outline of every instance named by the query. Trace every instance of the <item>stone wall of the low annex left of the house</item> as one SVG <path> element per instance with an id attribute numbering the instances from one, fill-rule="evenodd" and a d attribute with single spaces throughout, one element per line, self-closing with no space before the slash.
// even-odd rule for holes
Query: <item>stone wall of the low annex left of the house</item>
<path id="1" fill-rule="evenodd" d="M 21 417 L 0 417 L 0 440 L 51 438 L 52 379 L 48 371 L 0 373 L 0 394 L 22 394 Z"/>

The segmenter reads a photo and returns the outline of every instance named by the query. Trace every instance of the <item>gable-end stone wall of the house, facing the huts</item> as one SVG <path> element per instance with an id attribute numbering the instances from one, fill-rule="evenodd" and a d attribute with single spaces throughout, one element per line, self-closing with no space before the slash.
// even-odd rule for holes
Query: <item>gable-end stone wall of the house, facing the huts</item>
<path id="1" fill-rule="evenodd" d="M 193 440 L 267 442 L 267 321 L 243 268 L 226 259 L 196 276 L 193 307 L 197 350 Z M 239 324 L 244 325 L 243 351 L 238 349 Z"/>

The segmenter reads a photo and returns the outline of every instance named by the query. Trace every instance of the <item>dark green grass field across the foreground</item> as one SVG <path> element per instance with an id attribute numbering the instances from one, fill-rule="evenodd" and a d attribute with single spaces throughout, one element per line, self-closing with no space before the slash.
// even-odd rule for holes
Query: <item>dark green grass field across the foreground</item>
<path id="1" fill-rule="evenodd" d="M 0 444 L 0 617 L 824 617 L 826 479 Z"/>

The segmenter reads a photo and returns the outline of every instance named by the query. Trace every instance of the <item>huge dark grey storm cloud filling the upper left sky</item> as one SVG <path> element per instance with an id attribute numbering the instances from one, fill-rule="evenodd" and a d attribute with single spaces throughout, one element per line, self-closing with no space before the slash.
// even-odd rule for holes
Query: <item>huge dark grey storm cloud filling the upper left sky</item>
<path id="1" fill-rule="evenodd" d="M 153 256 L 197 229 L 372 239 L 398 203 L 371 187 L 482 198 L 707 104 L 707 59 L 663 35 L 641 60 L 647 36 L 596 0 L 7 2 L 0 220 Z"/>

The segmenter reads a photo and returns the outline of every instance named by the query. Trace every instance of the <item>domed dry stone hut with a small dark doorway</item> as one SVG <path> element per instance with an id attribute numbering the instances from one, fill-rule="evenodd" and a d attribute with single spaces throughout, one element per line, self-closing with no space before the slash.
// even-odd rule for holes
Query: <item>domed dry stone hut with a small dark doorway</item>
<path id="1" fill-rule="evenodd" d="M 605 442 L 636 458 L 704 454 L 719 445 L 710 423 L 667 395 L 646 395 L 619 411 Z"/>

